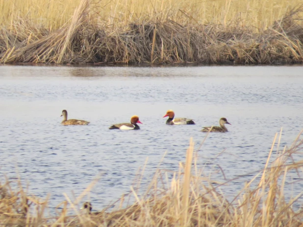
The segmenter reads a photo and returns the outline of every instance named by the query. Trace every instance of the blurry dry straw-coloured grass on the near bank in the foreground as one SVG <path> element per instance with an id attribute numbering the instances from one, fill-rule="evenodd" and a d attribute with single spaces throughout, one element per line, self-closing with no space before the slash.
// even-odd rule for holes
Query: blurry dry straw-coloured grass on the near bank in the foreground
<path id="1" fill-rule="evenodd" d="M 127 201 L 123 197 L 114 210 L 80 212 L 78 201 L 89 192 L 92 182 L 73 202 L 64 194 L 66 201 L 59 204 L 62 209 L 58 216 L 45 218 L 49 196 L 38 199 L 27 195 L 20 181 L 19 190 L 14 191 L 11 182 L 6 180 L 0 186 L 0 222 L 6 226 L 28 227 L 302 227 L 303 209 L 293 209 L 293 203 L 302 200 L 303 193 L 285 199 L 284 190 L 290 185 L 302 185 L 303 160 L 296 157 L 302 157 L 303 139 L 299 135 L 290 148 L 281 151 L 280 137 L 276 134 L 264 170 L 256 172 L 233 200 L 227 201 L 220 193 L 233 180 L 214 183 L 203 177 L 202 169 L 196 165 L 199 150 L 194 151 L 191 141 L 186 161 L 180 163 L 174 177 L 169 180 L 166 171 L 158 169 L 144 195 L 138 195 L 131 187 L 135 202 L 126 208 L 121 208 Z M 68 216 L 70 210 L 76 215 Z"/>

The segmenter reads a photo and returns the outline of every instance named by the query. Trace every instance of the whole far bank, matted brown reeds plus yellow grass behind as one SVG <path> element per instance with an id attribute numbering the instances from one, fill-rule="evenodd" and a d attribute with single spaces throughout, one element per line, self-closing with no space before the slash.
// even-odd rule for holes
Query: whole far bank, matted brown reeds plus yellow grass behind
<path id="1" fill-rule="evenodd" d="M 303 63 L 300 2 L 0 0 L 0 63 Z"/>

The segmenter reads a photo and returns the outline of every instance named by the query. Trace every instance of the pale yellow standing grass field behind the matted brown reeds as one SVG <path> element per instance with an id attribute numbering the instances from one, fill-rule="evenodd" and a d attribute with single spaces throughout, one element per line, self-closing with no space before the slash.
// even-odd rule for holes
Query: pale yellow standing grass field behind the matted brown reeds
<path id="1" fill-rule="evenodd" d="M 0 0 L 0 25 L 18 17 L 56 29 L 69 22 L 80 0 Z M 264 29 L 302 0 L 92 0 L 91 17 L 110 27 L 173 20 L 182 25 L 214 23 Z"/>

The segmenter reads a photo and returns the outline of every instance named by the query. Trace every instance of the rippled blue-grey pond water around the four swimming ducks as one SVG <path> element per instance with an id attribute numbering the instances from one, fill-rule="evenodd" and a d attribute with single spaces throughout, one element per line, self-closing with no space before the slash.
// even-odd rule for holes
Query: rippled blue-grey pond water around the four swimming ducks
<path id="1" fill-rule="evenodd" d="M 202 126 L 218 125 L 221 117 L 229 131 L 206 139 L 198 165 L 211 160 L 205 175 L 217 171 L 214 179 L 222 180 L 220 168 L 227 179 L 249 174 L 264 167 L 281 127 L 281 147 L 303 128 L 302 72 L 302 66 L 0 66 L 1 181 L 18 171 L 30 195 L 51 194 L 53 213 L 64 192 L 74 200 L 100 174 L 83 198 L 98 210 L 130 190 L 147 158 L 143 184 L 166 151 L 160 168 L 177 171 L 190 138 L 197 149 Z M 90 125 L 60 125 L 63 109 Z M 196 125 L 165 125 L 168 109 Z M 108 129 L 132 115 L 139 115 L 141 130 Z M 234 181 L 227 195 L 251 178 Z M 296 183 L 291 193 L 302 187 Z"/>

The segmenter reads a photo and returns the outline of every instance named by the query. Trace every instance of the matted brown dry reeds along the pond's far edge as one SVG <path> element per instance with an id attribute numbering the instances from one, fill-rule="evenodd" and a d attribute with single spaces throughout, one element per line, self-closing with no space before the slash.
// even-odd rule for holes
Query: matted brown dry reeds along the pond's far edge
<path id="1" fill-rule="evenodd" d="M 112 28 L 81 0 L 69 24 L 51 31 L 19 18 L 0 29 L 0 63 L 303 63 L 303 5 L 266 30 L 149 20 Z M 184 14 L 184 17 L 190 17 Z"/>

